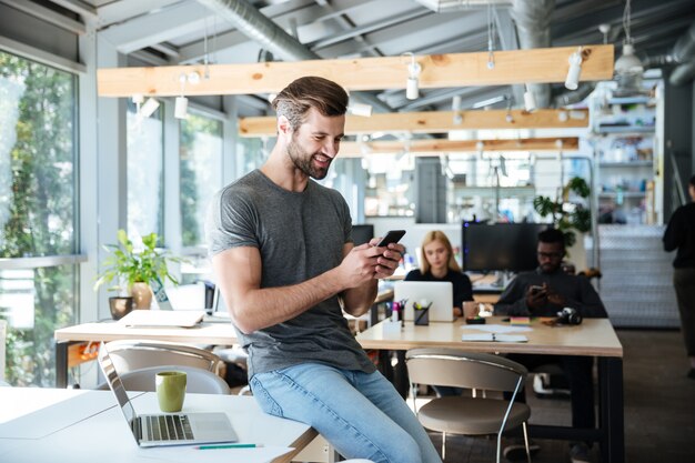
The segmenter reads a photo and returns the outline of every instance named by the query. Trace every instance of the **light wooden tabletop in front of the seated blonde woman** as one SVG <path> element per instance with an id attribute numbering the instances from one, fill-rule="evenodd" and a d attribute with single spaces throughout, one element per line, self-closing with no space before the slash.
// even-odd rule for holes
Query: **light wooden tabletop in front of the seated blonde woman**
<path id="1" fill-rule="evenodd" d="M 487 324 L 508 325 L 501 316 L 491 316 Z M 432 322 L 415 326 L 406 322 L 401 331 L 384 332 L 383 322 L 357 334 L 364 349 L 407 350 L 413 348 L 462 348 L 471 352 L 517 352 L 537 354 L 567 354 L 592 356 L 623 356 L 621 345 L 611 321 L 584 319 L 577 326 L 548 326 L 540 320 L 531 322 L 531 331 L 524 334 L 528 342 L 463 342 L 463 333 L 481 333 L 476 325 L 462 320 L 452 323 Z"/>

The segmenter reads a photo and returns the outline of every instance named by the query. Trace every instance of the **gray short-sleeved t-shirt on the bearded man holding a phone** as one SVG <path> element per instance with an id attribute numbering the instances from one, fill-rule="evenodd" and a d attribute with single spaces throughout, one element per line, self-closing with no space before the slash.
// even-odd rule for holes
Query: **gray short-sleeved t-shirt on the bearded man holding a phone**
<path id="1" fill-rule="evenodd" d="M 239 246 L 259 249 L 261 288 L 298 284 L 338 266 L 351 228 L 339 192 L 312 180 L 301 193 L 286 191 L 259 170 L 220 190 L 205 223 L 211 255 Z M 338 296 L 283 323 L 236 332 L 249 352 L 249 378 L 308 362 L 375 370 L 351 334 Z"/>

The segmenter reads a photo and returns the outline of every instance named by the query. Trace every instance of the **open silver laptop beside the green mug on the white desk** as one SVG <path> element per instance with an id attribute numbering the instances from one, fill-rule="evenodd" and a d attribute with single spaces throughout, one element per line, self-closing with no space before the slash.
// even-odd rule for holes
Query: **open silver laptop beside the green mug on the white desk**
<path id="1" fill-rule="evenodd" d="M 105 343 L 99 350 L 99 365 L 113 391 L 138 445 L 143 447 L 236 442 L 225 413 L 160 413 L 138 415 L 118 375 Z M 154 378 L 152 378 L 154 383 Z"/>

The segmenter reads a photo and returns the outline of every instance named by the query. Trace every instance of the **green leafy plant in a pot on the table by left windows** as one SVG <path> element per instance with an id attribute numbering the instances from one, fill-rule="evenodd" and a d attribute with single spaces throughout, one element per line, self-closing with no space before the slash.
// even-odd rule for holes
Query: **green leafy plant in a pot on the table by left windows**
<path id="1" fill-rule="evenodd" d="M 149 309 L 152 303 L 151 282 L 163 284 L 165 280 L 179 284 L 169 272 L 168 262 L 181 262 L 182 259 L 171 256 L 165 251 L 157 250 L 159 236 L 150 233 L 142 236 L 142 249 L 137 250 L 128 238 L 125 230 L 118 231 L 118 244 L 105 244 L 109 256 L 104 260 L 104 269 L 98 275 L 94 291 L 104 283 L 115 281 L 109 291 L 124 290 L 133 298 L 135 309 Z"/>

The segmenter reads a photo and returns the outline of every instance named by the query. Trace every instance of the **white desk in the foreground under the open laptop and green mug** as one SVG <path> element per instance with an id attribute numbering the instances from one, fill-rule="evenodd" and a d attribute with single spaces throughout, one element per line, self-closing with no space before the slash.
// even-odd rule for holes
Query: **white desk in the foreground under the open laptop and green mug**
<path id="1" fill-rule="evenodd" d="M 154 393 L 132 393 L 138 413 L 157 413 Z M 11 406 L 10 406 L 11 405 Z M 240 442 L 264 445 L 273 463 L 290 462 L 316 432 L 263 413 L 251 396 L 187 394 L 184 412 L 223 411 Z M 294 450 L 279 455 L 279 447 Z M 110 391 L 0 387 L 0 461 L 12 463 L 253 461 L 253 449 L 140 449 Z M 245 452 L 245 453 L 244 453 Z M 259 451 L 261 452 L 261 451 Z M 244 456 L 245 455 L 245 456 Z"/>

